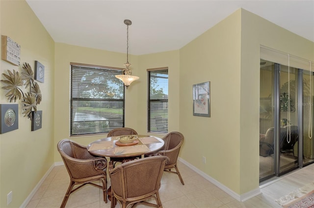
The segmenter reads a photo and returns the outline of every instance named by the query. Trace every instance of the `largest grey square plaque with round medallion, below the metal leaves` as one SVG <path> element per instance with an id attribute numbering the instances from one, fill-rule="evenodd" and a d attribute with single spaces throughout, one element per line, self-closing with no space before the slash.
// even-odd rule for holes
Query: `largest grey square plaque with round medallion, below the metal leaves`
<path id="1" fill-rule="evenodd" d="M 0 104 L 1 130 L 5 133 L 11 130 L 19 129 L 19 105 L 18 104 Z"/>

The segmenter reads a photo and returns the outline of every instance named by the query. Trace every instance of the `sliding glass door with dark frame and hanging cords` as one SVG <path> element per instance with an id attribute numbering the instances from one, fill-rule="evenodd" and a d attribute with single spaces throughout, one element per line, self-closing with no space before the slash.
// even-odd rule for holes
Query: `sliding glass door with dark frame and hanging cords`
<path id="1" fill-rule="evenodd" d="M 313 73 L 261 59 L 260 181 L 314 161 Z"/>

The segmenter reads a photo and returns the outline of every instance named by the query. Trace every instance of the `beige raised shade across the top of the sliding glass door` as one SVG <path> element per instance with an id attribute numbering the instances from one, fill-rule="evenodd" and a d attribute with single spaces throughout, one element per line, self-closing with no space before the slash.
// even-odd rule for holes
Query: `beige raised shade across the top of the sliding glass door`
<path id="1" fill-rule="evenodd" d="M 310 71 L 310 60 L 305 60 L 294 55 L 290 55 L 285 52 L 279 52 L 264 46 L 261 46 L 260 48 L 260 57 L 261 59 L 272 61 L 274 63 Z M 311 65 L 311 71 L 313 71 L 313 62 L 311 63 Z"/>

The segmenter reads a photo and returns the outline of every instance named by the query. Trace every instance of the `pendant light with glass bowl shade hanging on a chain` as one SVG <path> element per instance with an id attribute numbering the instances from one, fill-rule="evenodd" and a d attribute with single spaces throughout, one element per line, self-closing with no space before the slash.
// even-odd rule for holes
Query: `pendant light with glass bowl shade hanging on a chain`
<path id="1" fill-rule="evenodd" d="M 129 26 L 132 24 L 131 20 L 124 20 L 124 24 L 127 25 L 127 63 L 125 63 L 125 69 L 122 71 L 122 75 L 116 75 L 116 78 L 123 81 L 124 85 L 127 87 L 130 86 L 132 81 L 139 79 L 139 77 L 132 76 L 132 71 L 129 69 L 131 64 L 129 63 Z"/>

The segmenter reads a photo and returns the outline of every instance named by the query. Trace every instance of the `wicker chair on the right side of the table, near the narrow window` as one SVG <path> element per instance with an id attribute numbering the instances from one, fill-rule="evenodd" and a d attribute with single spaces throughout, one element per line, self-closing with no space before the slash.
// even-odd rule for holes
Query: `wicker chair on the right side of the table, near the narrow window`
<path id="1" fill-rule="evenodd" d="M 167 156 L 167 157 L 169 157 L 170 160 L 169 160 L 169 162 L 166 163 L 164 170 L 171 172 L 171 173 L 176 173 L 179 176 L 181 183 L 184 185 L 183 179 L 181 177 L 181 174 L 180 174 L 178 166 L 177 166 L 177 159 L 179 156 L 180 148 L 183 144 L 184 136 L 180 132 L 173 131 L 173 132 L 168 133 L 162 139 L 165 142 L 162 149 L 155 152 L 155 153 L 145 155 L 145 157 L 148 157 L 148 156 Z M 175 168 L 176 171 L 171 171 L 172 168 Z"/>

